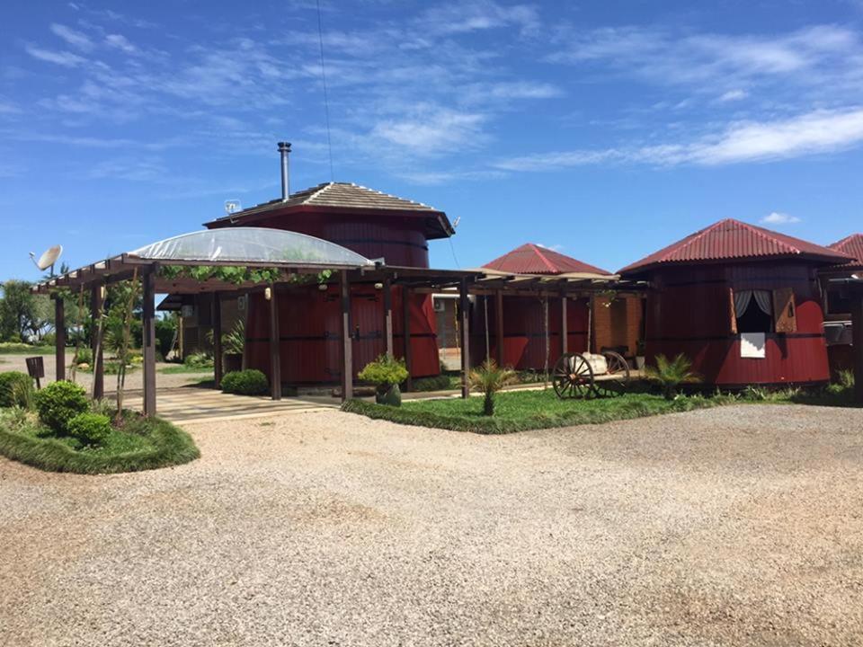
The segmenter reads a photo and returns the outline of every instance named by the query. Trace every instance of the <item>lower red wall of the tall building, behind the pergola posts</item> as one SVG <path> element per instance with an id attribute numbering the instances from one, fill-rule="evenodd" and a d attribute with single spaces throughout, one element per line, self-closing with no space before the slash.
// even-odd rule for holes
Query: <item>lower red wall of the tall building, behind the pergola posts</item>
<path id="1" fill-rule="evenodd" d="M 342 315 L 338 288 L 289 288 L 278 294 L 281 378 L 285 384 L 335 384 L 341 377 Z M 438 346 L 432 299 L 411 297 L 411 350 L 414 377 L 437 375 Z M 354 377 L 386 350 L 383 295 L 372 284 L 351 286 Z M 404 357 L 402 289 L 393 288 L 393 345 Z M 270 377 L 270 304 L 262 293 L 249 299 L 246 362 Z"/>

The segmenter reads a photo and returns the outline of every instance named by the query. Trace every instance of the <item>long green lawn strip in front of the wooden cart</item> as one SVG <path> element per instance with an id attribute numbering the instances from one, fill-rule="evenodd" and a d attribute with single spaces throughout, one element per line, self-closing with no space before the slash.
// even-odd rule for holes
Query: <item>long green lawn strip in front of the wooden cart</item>
<path id="1" fill-rule="evenodd" d="M 736 400 L 731 396 L 716 395 L 681 397 L 669 401 L 661 395 L 653 394 L 560 400 L 553 390 L 547 389 L 504 392 L 498 394 L 494 402 L 494 416 L 483 415 L 482 397 L 467 400 L 412 400 L 403 403 L 399 408 L 351 400 L 343 405 L 343 410 L 403 424 L 494 434 L 685 412 L 733 403 Z"/>

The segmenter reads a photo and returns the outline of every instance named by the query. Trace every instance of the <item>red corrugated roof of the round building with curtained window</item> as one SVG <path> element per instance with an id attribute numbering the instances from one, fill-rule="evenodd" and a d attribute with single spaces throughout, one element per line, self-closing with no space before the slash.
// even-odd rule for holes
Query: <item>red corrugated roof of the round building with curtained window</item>
<path id="1" fill-rule="evenodd" d="M 645 256 L 619 271 L 633 274 L 668 264 L 745 261 L 796 257 L 830 264 L 847 262 L 845 253 L 727 218 Z"/>

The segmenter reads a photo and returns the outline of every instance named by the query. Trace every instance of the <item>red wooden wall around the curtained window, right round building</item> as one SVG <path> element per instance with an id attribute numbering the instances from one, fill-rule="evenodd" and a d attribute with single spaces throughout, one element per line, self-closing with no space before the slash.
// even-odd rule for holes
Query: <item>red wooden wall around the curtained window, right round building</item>
<path id="1" fill-rule="evenodd" d="M 646 355 L 685 353 L 708 385 L 804 384 L 830 377 L 823 311 L 806 262 L 770 261 L 655 270 L 649 277 Z M 770 333 L 765 359 L 740 357 L 728 289 L 793 288 L 797 332 Z"/>

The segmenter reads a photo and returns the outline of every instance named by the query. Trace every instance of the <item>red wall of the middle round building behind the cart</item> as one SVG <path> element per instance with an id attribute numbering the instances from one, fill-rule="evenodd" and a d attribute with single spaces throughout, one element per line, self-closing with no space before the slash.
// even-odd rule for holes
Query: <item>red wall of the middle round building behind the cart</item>
<path id="1" fill-rule="evenodd" d="M 489 344 L 497 359 L 497 306 L 488 298 Z M 470 361 L 485 361 L 485 308 L 476 297 L 471 312 Z M 503 365 L 518 370 L 542 370 L 546 363 L 545 314 L 538 297 L 503 297 Z M 586 299 L 570 299 L 566 305 L 566 337 L 569 352 L 587 350 L 588 311 Z M 553 368 L 561 355 L 561 304 L 559 297 L 548 299 L 548 366 Z"/>

